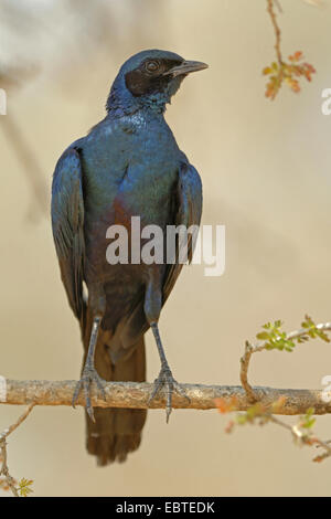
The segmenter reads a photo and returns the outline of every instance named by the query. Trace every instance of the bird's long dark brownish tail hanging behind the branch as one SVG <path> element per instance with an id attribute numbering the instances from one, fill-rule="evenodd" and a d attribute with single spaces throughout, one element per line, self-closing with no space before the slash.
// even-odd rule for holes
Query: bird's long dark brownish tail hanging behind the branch
<path id="1" fill-rule="evenodd" d="M 84 328 L 85 357 L 88 349 L 90 324 Z M 108 352 L 111 347 L 109 333 L 99 330 L 95 350 L 95 368 L 107 381 L 146 380 L 146 356 L 143 336 L 137 342 L 130 357 L 116 364 L 111 363 Z M 125 462 L 128 453 L 136 451 L 141 441 L 141 430 L 146 421 L 146 410 L 94 407 L 95 423 L 86 414 L 86 448 L 88 454 L 97 457 L 98 465 L 113 462 Z"/>

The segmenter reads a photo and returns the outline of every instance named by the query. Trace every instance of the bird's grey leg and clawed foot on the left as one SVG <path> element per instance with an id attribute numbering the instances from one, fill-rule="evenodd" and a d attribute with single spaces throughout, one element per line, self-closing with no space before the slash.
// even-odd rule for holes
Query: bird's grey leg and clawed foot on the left
<path id="1" fill-rule="evenodd" d="M 75 391 L 74 391 L 74 395 L 73 395 L 73 406 L 75 407 L 75 403 L 77 401 L 79 392 L 82 389 L 84 390 L 86 411 L 93 422 L 95 422 L 95 419 L 94 419 L 93 406 L 90 404 L 92 382 L 96 383 L 97 388 L 102 391 L 104 399 L 106 399 L 105 388 L 103 385 L 103 379 L 98 375 L 94 367 L 94 354 L 95 354 L 95 348 L 96 348 L 96 343 L 98 339 L 98 331 L 99 331 L 100 322 L 102 322 L 102 317 L 97 316 L 94 318 L 86 361 L 84 364 L 81 380 L 77 382 Z"/>

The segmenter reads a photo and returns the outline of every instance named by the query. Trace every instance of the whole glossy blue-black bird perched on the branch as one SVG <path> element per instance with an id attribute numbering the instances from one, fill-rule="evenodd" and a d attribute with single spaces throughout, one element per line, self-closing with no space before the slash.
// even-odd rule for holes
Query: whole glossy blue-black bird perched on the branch
<path id="1" fill-rule="evenodd" d="M 53 235 L 85 350 L 73 403 L 84 390 L 87 451 L 100 465 L 122 462 L 138 448 L 146 410 L 93 410 L 90 384 L 103 391 L 103 380 L 145 381 L 143 335 L 149 328 L 161 360 L 151 399 L 164 389 L 168 419 L 173 390 L 183 392 L 172 377 L 158 328 L 182 265 L 111 265 L 106 233 L 117 224 L 130 234 L 131 216 L 140 216 L 141 227 L 154 224 L 163 231 L 167 225 L 200 224 L 201 180 L 163 114 L 182 80 L 206 66 L 159 50 L 131 56 L 111 86 L 105 119 L 73 142 L 55 168 Z M 190 257 L 192 247 L 191 241 Z"/>

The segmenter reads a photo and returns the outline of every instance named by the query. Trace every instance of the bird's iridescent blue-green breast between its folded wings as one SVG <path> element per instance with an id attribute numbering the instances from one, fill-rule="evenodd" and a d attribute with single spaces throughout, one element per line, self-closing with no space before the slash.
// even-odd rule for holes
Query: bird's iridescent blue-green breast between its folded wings
<path id="1" fill-rule="evenodd" d="M 137 114 L 105 119 L 82 147 L 87 263 L 107 268 L 106 233 L 110 225 L 162 229 L 173 223 L 173 192 L 185 156 L 163 118 Z"/>

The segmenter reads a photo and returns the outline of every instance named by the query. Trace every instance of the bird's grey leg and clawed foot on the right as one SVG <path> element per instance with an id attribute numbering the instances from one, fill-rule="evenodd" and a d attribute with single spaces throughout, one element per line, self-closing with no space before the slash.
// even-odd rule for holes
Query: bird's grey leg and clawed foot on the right
<path id="1" fill-rule="evenodd" d="M 160 370 L 159 377 L 154 380 L 153 390 L 152 390 L 152 393 L 151 393 L 151 395 L 148 400 L 148 404 L 157 395 L 159 390 L 161 388 L 164 388 L 166 398 L 167 398 L 166 413 L 167 413 L 167 423 L 168 423 L 170 413 L 172 411 L 172 393 L 173 393 L 173 391 L 177 391 L 178 393 L 180 393 L 189 402 L 190 402 L 190 399 L 186 395 L 185 390 L 174 380 L 174 378 L 172 375 L 172 372 L 171 372 L 171 369 L 168 364 L 167 357 L 166 357 L 166 353 L 164 353 L 164 349 L 163 349 L 163 346 L 162 346 L 162 342 L 161 342 L 158 324 L 157 322 L 151 322 L 150 327 L 152 329 L 152 332 L 153 332 L 153 336 L 154 336 L 154 339 L 156 339 L 156 342 L 157 342 L 157 347 L 158 347 L 158 351 L 159 351 L 159 356 L 160 356 L 160 360 L 161 360 L 161 370 Z"/>

